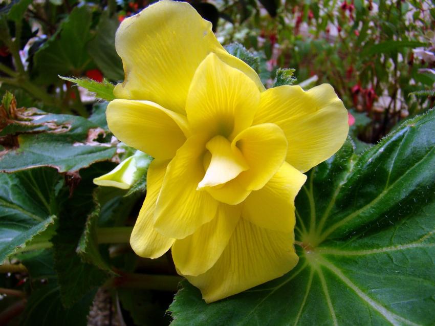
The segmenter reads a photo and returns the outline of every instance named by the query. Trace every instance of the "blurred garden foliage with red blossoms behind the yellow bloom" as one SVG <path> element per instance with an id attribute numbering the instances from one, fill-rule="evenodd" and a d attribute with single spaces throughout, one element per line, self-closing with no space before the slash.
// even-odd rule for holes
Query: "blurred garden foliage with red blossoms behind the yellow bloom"
<path id="1" fill-rule="evenodd" d="M 9 0 L 0 5 L 0 93 L 19 106 L 87 116 L 95 99 L 62 76 L 123 80 L 114 47 L 125 17 L 152 2 Z M 267 87 L 277 68 L 305 89 L 331 83 L 350 111 L 352 135 L 381 139 L 433 106 L 435 8 L 430 1 L 190 1 L 229 51 Z M 233 44 L 233 45 L 231 45 Z M 258 59 L 257 59 L 258 58 Z M 287 74 L 292 71 L 287 71 Z M 2 95 L 2 94 L 0 94 Z"/>

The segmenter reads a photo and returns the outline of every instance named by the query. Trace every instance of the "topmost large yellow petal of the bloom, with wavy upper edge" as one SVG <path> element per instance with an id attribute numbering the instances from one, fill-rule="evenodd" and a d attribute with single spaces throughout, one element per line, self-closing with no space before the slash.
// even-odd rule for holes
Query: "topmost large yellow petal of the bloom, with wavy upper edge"
<path id="1" fill-rule="evenodd" d="M 149 100 L 182 113 L 193 74 L 210 52 L 264 89 L 255 72 L 225 51 L 211 23 L 187 3 L 160 1 L 124 19 L 115 44 L 125 71 L 114 91 L 117 98 Z"/>

